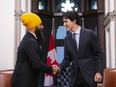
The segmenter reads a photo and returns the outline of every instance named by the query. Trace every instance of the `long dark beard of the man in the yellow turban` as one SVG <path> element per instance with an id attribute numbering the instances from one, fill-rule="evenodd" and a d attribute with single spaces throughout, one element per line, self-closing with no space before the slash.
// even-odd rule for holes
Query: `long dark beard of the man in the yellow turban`
<path id="1" fill-rule="evenodd" d="M 43 35 L 43 32 L 42 32 L 42 28 L 38 28 L 36 27 L 36 30 L 35 30 L 35 35 L 37 36 L 37 41 L 39 43 L 45 43 L 45 37 Z"/>

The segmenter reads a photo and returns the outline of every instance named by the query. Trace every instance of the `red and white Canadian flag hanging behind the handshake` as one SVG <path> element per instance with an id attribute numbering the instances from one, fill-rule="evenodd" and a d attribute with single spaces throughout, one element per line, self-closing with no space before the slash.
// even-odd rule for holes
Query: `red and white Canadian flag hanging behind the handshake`
<path id="1" fill-rule="evenodd" d="M 48 54 L 47 54 L 47 65 L 58 65 L 57 55 L 54 46 L 53 35 L 50 35 L 49 46 L 48 46 Z M 45 74 L 44 78 L 44 86 L 51 87 L 53 86 L 53 74 Z"/>

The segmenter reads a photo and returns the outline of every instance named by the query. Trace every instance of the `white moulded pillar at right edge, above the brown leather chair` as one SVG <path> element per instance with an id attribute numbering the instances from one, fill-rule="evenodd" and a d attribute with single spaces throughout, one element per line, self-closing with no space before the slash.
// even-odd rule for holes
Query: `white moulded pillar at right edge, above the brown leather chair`
<path id="1" fill-rule="evenodd" d="M 105 0 L 106 67 L 116 67 L 116 1 Z"/>

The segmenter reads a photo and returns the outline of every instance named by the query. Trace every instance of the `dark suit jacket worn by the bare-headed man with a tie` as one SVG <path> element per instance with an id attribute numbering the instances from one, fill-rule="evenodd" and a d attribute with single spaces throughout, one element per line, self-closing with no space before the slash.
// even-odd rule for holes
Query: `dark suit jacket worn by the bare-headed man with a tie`
<path id="1" fill-rule="evenodd" d="M 79 38 L 79 49 L 77 51 L 72 33 L 65 38 L 65 55 L 60 69 L 66 68 L 70 62 L 71 78 L 70 85 L 73 86 L 78 74 L 78 67 L 88 84 L 94 84 L 94 75 L 96 72 L 103 72 L 104 54 L 100 48 L 97 37 L 92 30 L 81 29 Z"/>

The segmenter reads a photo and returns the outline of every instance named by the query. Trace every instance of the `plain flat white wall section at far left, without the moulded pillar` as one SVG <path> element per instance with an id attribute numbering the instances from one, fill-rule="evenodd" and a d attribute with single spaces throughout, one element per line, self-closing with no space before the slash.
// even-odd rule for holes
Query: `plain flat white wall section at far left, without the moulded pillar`
<path id="1" fill-rule="evenodd" d="M 0 3 L 0 69 L 13 68 L 14 0 Z"/>

